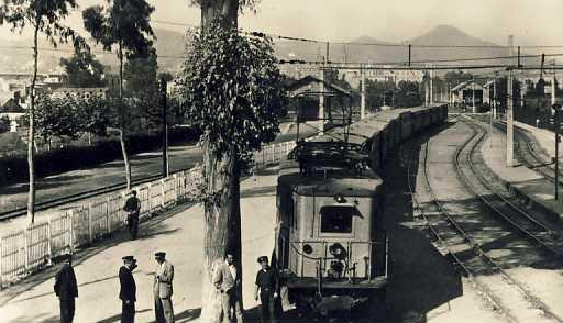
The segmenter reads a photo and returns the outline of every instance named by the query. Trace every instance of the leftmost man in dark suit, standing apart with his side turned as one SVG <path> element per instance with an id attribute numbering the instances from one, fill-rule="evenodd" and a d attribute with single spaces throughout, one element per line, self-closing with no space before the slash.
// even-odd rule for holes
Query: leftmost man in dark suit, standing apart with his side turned
<path id="1" fill-rule="evenodd" d="M 64 264 L 55 276 L 55 294 L 60 303 L 60 323 L 73 323 L 75 318 L 75 298 L 78 297 L 76 275 L 73 269 L 73 256 L 64 255 Z"/>

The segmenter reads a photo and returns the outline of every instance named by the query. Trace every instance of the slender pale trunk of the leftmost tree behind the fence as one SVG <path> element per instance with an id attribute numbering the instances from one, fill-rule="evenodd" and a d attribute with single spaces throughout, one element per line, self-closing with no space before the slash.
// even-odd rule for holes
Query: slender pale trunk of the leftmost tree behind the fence
<path id="1" fill-rule="evenodd" d="M 30 171 L 30 190 L 27 193 L 27 222 L 35 221 L 35 82 L 37 81 L 37 33 L 40 31 L 38 22 L 35 23 L 33 33 L 33 78 L 31 80 L 31 101 L 30 101 L 30 127 L 27 132 L 27 166 Z"/>

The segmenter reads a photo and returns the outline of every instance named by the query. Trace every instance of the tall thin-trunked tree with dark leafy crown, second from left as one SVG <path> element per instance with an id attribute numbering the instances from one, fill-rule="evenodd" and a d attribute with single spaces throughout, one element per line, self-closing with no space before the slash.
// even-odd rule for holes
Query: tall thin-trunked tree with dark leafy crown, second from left
<path id="1" fill-rule="evenodd" d="M 101 43 L 106 51 L 117 47 L 119 59 L 119 98 L 117 104 L 120 110 L 117 116 L 119 138 L 123 163 L 125 164 L 125 178 L 128 189 L 131 188 L 131 165 L 126 151 L 128 112 L 123 102 L 123 60 L 130 57 L 147 55 L 152 47 L 154 32 L 150 24 L 150 16 L 154 11 L 145 0 L 107 0 L 107 7 L 93 5 L 82 12 L 86 30 Z"/>

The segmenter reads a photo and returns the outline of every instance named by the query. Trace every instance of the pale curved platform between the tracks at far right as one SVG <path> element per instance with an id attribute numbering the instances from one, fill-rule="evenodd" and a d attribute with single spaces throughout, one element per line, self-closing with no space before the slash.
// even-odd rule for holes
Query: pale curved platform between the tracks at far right
<path id="1" fill-rule="evenodd" d="M 485 123 L 483 123 L 485 125 Z M 533 135 L 541 147 L 554 156 L 554 134 L 548 130 L 515 122 L 515 126 Z M 487 125 L 488 129 L 488 125 Z M 563 189 L 560 187 L 559 200 L 554 199 L 554 186 L 540 174 L 523 165 L 516 164 L 515 167 L 506 165 L 506 133 L 493 127 L 492 135 L 481 146 L 481 153 L 488 168 L 504 181 L 516 194 L 529 199 L 531 207 L 545 213 L 548 219 L 556 224 L 563 219 Z M 516 158 L 516 155 L 515 155 Z"/>

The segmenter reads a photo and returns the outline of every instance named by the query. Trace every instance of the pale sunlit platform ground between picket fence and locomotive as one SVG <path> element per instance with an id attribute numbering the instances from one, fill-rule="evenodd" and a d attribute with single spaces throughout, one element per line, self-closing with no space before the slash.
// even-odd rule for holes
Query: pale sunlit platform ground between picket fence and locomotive
<path id="1" fill-rule="evenodd" d="M 253 298 L 256 258 L 271 256 L 274 248 L 277 169 L 267 168 L 241 182 L 243 300 L 249 321 L 257 319 Z M 125 232 L 100 242 L 74 258 L 78 282 L 75 322 L 113 323 L 120 321 L 118 272 L 121 257 L 133 255 L 139 268 L 135 322 L 154 322 L 154 253 L 166 252 L 174 265 L 173 305 L 178 323 L 200 322 L 203 266 L 203 210 L 200 205 L 178 205 L 141 223 L 140 237 L 130 241 Z M 37 272 L 0 291 L 2 323 L 59 322 L 58 299 L 53 292 L 54 276 L 60 265 Z M 205 323 L 205 322 L 203 322 Z"/>

